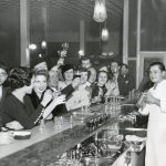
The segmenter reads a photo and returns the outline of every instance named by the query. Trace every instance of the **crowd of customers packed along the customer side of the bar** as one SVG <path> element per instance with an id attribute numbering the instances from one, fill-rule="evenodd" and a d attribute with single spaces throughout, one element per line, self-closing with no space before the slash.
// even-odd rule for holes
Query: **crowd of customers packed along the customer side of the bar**
<path id="1" fill-rule="evenodd" d="M 8 70 L 0 62 L 1 128 L 32 128 L 41 118 L 52 120 L 102 103 L 105 95 L 127 95 L 134 89 L 126 64 L 114 61 L 110 68 L 95 69 L 89 58 L 83 58 L 79 66 L 63 62 L 60 59 L 50 70 L 42 58 L 32 69 Z"/>

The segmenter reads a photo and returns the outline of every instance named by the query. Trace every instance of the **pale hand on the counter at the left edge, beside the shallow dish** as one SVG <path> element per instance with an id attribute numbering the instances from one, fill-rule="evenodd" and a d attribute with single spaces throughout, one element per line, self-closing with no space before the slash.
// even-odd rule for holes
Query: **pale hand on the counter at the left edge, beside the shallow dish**
<path id="1" fill-rule="evenodd" d="M 10 144 L 11 142 L 13 142 L 11 132 L 0 132 L 0 145 Z"/>

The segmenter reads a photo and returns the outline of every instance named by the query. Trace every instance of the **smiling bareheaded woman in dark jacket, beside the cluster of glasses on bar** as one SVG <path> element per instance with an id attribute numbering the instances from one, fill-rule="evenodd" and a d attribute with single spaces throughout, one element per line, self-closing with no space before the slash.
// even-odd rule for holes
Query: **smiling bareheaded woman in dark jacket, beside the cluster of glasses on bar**
<path id="1" fill-rule="evenodd" d="M 104 101 L 104 95 L 107 92 L 105 86 L 107 82 L 107 72 L 100 71 L 97 74 L 97 82 L 92 85 L 92 103 L 98 103 Z"/>

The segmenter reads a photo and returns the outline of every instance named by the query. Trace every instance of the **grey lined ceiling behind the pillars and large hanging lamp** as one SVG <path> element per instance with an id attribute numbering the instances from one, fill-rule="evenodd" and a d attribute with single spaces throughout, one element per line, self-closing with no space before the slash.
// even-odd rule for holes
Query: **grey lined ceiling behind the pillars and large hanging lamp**
<path id="1" fill-rule="evenodd" d="M 20 30 L 20 1 L 0 0 L 0 34 Z M 87 33 L 98 33 L 100 23 L 93 18 L 94 0 L 27 0 L 31 32 L 50 35 L 54 32 L 79 32 L 80 20 L 85 21 Z M 124 0 L 106 0 L 106 27 L 122 30 Z"/>

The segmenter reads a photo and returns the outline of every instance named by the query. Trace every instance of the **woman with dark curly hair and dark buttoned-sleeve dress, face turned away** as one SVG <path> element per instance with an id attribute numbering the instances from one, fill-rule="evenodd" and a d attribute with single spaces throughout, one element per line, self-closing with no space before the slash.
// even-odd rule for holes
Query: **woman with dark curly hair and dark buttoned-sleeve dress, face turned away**
<path id="1" fill-rule="evenodd" d="M 52 100 L 51 91 L 46 91 L 39 106 L 34 108 L 30 97 L 27 95 L 32 92 L 33 81 L 34 79 L 30 77 L 30 73 L 24 68 L 15 68 L 10 72 L 9 83 L 12 93 L 6 97 L 2 106 L 3 125 L 15 121 L 23 128 L 32 128 L 41 116 L 45 118 L 53 106 L 55 107 L 55 105 L 63 103 L 64 97 L 53 98 L 49 107 L 45 108 Z"/>

